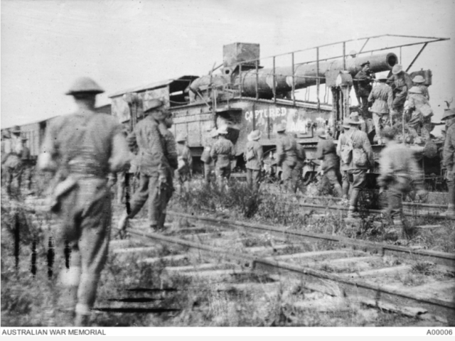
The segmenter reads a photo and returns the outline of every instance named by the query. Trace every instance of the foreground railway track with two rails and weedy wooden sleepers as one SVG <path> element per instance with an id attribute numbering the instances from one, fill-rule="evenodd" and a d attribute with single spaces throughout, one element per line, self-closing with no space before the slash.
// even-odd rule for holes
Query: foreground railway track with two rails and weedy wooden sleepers
<path id="1" fill-rule="evenodd" d="M 298 281 L 311 291 L 454 325 L 455 254 L 178 212 L 169 215 L 174 226 L 179 221 L 189 226 L 161 234 L 135 222 L 139 227 L 129 233 L 141 242 L 117 252 L 154 254 L 160 245 L 171 245 L 180 251 L 142 260 L 164 264 L 165 278 L 243 277 L 245 281 L 245 276 L 262 276 L 269 284 Z M 144 246 L 144 240 L 154 246 Z M 203 256 L 197 264 L 188 264 L 195 250 Z"/>

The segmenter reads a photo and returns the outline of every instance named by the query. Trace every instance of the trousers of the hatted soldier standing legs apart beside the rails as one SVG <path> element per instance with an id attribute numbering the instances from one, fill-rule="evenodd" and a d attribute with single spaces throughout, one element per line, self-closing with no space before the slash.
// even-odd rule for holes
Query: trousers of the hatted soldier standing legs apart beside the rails
<path id="1" fill-rule="evenodd" d="M 164 224 L 164 217 L 166 215 L 166 207 L 169 200 L 171 200 L 173 193 L 172 176 L 166 176 L 166 185 L 159 184 L 158 175 L 149 176 L 141 173 L 139 178 L 139 188 L 134 193 L 131 202 L 131 213 L 129 217 L 132 218 L 137 215 L 141 210 L 147 199 L 149 199 L 149 223 L 151 226 L 161 226 Z"/>

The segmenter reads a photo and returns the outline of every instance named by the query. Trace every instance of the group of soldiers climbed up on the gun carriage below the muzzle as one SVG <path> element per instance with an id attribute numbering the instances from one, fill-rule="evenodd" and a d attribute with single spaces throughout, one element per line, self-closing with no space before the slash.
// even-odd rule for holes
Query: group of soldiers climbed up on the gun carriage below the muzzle
<path id="1" fill-rule="evenodd" d="M 408 143 L 421 144 L 427 141 L 432 131 L 433 111 L 424 77 L 417 75 L 412 79 L 402 65 L 397 64 L 392 68 L 390 77 L 375 79 L 369 62 L 361 67 L 362 70 L 354 77 L 355 94 L 363 119 L 373 120 L 377 143 L 382 144 L 382 127 L 394 126 L 397 131 L 402 131 L 403 124 L 408 132 Z M 375 87 L 372 85 L 374 81 L 378 82 Z M 366 132 L 370 133 L 373 126 Z"/>

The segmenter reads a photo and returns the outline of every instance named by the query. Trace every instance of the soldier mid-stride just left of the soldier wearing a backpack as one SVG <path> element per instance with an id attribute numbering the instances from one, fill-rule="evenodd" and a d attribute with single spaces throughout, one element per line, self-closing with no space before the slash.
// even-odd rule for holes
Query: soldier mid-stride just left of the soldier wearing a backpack
<path id="1" fill-rule="evenodd" d="M 336 155 L 336 145 L 333 140 L 327 139 L 328 136 L 323 128 L 318 129 L 316 135 L 319 137 L 318 146 L 316 147 L 316 158 L 322 160 L 321 170 L 323 171 L 323 177 L 319 184 L 319 195 L 321 195 L 325 185 L 331 183 L 336 196 L 341 197 L 343 196 L 343 190 L 341 190 L 341 185 L 338 183 L 340 159 Z"/>

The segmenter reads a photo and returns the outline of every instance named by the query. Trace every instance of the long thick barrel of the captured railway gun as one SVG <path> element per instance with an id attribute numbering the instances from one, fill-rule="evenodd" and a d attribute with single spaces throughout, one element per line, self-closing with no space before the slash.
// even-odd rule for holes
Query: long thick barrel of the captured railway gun
<path id="1" fill-rule="evenodd" d="M 325 61 L 319 63 L 319 72 L 317 63 L 296 64 L 294 81 L 292 80 L 292 67 L 275 67 L 275 72 L 273 69 L 260 69 L 257 71 L 257 75 L 256 70 L 253 69 L 242 72 L 238 77 L 242 82 L 242 95 L 244 96 L 255 96 L 256 91 L 258 94 L 273 94 L 274 80 L 275 92 L 282 94 L 292 90 L 293 82 L 296 90 L 316 85 L 318 77 L 320 84 L 324 84 L 328 71 L 346 70 L 354 77 L 362 69 L 360 65 L 365 62 L 370 62 L 370 69 L 373 72 L 382 72 L 392 70 L 393 65 L 398 63 L 398 58 L 395 53 L 350 58 L 346 60 L 346 68 L 343 65 L 343 59 Z"/>

